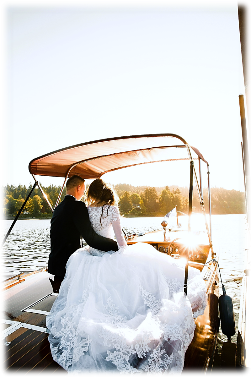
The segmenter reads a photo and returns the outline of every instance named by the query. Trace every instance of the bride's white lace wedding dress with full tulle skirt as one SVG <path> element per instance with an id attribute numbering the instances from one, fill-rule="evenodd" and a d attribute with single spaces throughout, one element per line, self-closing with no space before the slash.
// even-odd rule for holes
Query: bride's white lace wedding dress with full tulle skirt
<path id="1" fill-rule="evenodd" d="M 127 247 L 119 211 L 88 207 L 94 230 L 119 251 L 75 251 L 46 324 L 53 359 L 69 376 L 180 376 L 194 318 L 206 307 L 201 274 L 154 247 Z M 102 225 L 101 225 L 102 224 Z"/>

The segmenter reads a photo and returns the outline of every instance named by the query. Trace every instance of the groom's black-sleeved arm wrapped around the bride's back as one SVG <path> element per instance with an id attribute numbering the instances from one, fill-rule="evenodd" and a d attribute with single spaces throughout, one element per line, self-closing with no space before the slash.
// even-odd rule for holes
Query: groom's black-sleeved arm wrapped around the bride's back
<path id="1" fill-rule="evenodd" d="M 72 215 L 74 224 L 89 246 L 102 251 L 118 250 L 117 242 L 113 241 L 110 238 L 99 236 L 93 230 L 93 228 L 91 227 L 88 210 L 85 207 L 84 202 L 74 202 L 74 211 Z"/>

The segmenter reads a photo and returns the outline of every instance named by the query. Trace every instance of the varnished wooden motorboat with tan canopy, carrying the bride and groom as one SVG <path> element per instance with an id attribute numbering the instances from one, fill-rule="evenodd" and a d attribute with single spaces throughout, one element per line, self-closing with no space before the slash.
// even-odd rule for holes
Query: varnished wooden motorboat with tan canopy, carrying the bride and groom
<path id="1" fill-rule="evenodd" d="M 195 334 L 186 351 L 182 375 L 206 376 L 211 374 L 220 323 L 219 251 L 214 251 L 211 240 L 209 164 L 199 150 L 190 146 L 181 136 L 172 133 L 124 136 L 91 141 L 47 153 L 30 162 L 29 172 L 35 180 L 32 190 L 38 186 L 53 211 L 37 176 L 64 178 L 56 201 L 58 205 L 65 182 L 72 175 L 95 179 L 114 170 L 160 161 L 177 161 L 177 164 L 179 161 L 187 161 L 190 169 L 187 229 L 181 229 L 179 224 L 176 228 L 168 229 L 167 222 L 162 221 L 164 230 L 127 234 L 127 243 L 146 242 L 175 259 L 185 258 L 186 272 L 188 266 L 201 271 L 207 287 L 207 307 L 203 315 L 195 318 Z M 202 164 L 207 169 L 208 176 L 209 224 L 203 202 Z M 193 231 L 191 227 L 193 183 L 196 185 L 205 220 L 205 230 L 202 232 Z M 22 207 L 24 205 L 25 202 Z M 1 247 L 10 231 L 11 228 Z M 187 239 L 191 237 L 193 244 L 187 243 Z M 186 276 L 185 273 L 184 294 L 187 293 Z M 49 330 L 46 328 L 46 316 L 58 295 L 53 293 L 48 277 L 45 267 L 26 275 L 20 273 L 1 283 L 1 365 L 6 375 L 67 374 L 53 361 L 47 340 Z"/>

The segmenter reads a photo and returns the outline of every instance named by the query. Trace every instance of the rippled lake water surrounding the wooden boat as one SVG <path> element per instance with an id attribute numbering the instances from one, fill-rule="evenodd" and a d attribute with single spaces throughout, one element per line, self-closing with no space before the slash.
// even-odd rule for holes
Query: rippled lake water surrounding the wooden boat
<path id="1" fill-rule="evenodd" d="M 125 231 L 153 231 L 161 229 L 162 217 L 122 218 Z M 179 222 L 187 229 L 187 216 L 181 216 Z M 2 221 L 2 239 L 11 226 L 12 220 Z M 201 215 L 192 216 L 192 230 L 204 230 Z M 213 215 L 212 241 L 214 251 L 220 254 L 219 265 L 227 295 L 234 305 L 236 335 L 232 343 L 219 331 L 213 375 L 237 374 L 234 368 L 235 344 L 239 318 L 240 291 L 243 276 L 243 259 L 246 248 L 245 215 Z M 9 235 L 1 253 L 1 280 L 19 272 L 28 273 L 46 267 L 50 253 L 50 220 L 19 220 Z M 222 294 L 222 290 L 220 290 Z M 225 347 L 225 348 L 224 348 Z M 224 362 L 226 359 L 226 363 Z M 230 365 L 231 364 L 231 365 Z M 231 371 L 229 368 L 231 367 Z"/>

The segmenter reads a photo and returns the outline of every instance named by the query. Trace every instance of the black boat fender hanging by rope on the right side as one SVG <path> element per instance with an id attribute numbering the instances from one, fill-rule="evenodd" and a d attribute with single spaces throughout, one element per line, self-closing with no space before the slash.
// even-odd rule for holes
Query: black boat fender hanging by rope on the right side
<path id="1" fill-rule="evenodd" d="M 221 277 L 221 271 L 219 263 L 212 259 L 209 262 L 215 262 L 218 264 L 219 267 L 219 273 Z M 207 263 L 209 263 L 207 262 Z M 205 264 L 207 264 L 205 263 Z M 234 308 L 233 308 L 233 300 L 230 296 L 227 296 L 226 290 L 224 285 L 222 284 L 221 279 L 221 285 L 222 285 L 222 296 L 219 297 L 219 310 L 220 310 L 220 320 L 221 320 L 221 331 L 224 335 L 227 336 L 228 341 L 231 341 L 231 336 L 233 336 L 236 333 L 235 329 L 235 322 L 234 322 Z"/>

